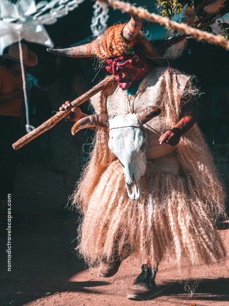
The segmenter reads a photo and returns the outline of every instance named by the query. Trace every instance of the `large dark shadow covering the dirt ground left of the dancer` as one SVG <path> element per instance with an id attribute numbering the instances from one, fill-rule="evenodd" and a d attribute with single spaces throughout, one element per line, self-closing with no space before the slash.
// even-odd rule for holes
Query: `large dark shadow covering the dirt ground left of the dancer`
<path id="1" fill-rule="evenodd" d="M 12 301 L 14 306 L 23 305 L 45 293 L 75 290 L 69 279 L 85 265 L 74 250 L 77 214 L 55 218 L 56 208 L 63 203 L 62 181 L 52 170 L 40 163 L 19 166 L 12 207 L 24 218 L 12 224 L 11 272 L 7 271 L 6 226 L 0 226 L 1 305 Z M 83 284 L 77 286 L 81 289 Z"/>

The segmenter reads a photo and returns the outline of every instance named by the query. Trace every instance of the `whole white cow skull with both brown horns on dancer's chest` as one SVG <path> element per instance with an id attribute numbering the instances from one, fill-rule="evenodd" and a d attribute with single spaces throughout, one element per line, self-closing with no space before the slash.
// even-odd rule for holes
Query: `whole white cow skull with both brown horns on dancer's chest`
<path id="1" fill-rule="evenodd" d="M 147 139 L 141 126 L 151 120 L 161 110 L 149 106 L 137 114 L 116 115 L 108 118 L 104 115 L 91 115 L 80 119 L 72 127 L 72 134 L 86 127 L 109 128 L 110 150 L 117 156 L 125 177 L 128 196 L 131 200 L 141 196 L 141 177 L 146 170 Z"/>

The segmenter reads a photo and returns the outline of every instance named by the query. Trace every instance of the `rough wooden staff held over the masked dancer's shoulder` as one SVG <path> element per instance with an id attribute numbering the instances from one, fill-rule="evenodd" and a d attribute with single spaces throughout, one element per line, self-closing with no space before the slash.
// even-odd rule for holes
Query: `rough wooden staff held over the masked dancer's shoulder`
<path id="1" fill-rule="evenodd" d="M 71 102 L 72 107 L 77 107 L 80 104 L 84 103 L 88 99 L 90 99 L 93 95 L 95 95 L 97 92 L 101 91 L 102 89 L 106 88 L 108 85 L 111 84 L 111 82 L 115 79 L 114 76 L 109 76 L 103 81 L 101 81 L 99 84 L 94 86 L 92 89 L 89 91 L 85 92 L 83 95 L 75 99 L 74 101 Z M 41 135 L 45 131 L 48 131 L 51 129 L 54 125 L 56 125 L 57 122 L 59 122 L 61 119 L 65 118 L 69 113 L 71 113 L 71 108 L 67 110 L 62 110 L 56 113 L 52 118 L 48 119 L 42 125 L 38 126 L 36 129 L 32 130 L 19 140 L 17 140 L 14 144 L 12 144 L 13 148 L 15 150 L 20 149 L 23 147 L 25 144 L 30 142 L 32 139 L 36 138 L 37 136 Z"/>

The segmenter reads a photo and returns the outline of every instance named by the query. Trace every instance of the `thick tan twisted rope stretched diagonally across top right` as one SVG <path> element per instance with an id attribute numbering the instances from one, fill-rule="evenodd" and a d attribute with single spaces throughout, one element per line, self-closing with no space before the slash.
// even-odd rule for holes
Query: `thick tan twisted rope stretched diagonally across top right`
<path id="1" fill-rule="evenodd" d="M 175 31 L 182 31 L 186 33 L 188 36 L 194 37 L 197 40 L 203 39 L 209 43 L 214 43 L 229 50 L 229 42 L 221 35 L 213 35 L 205 31 L 194 29 L 188 26 L 187 24 L 171 21 L 166 17 L 162 17 L 154 13 L 149 13 L 147 9 L 144 9 L 142 7 L 135 7 L 123 1 L 118 1 L 118 0 L 98 0 L 98 1 L 106 3 L 107 5 L 113 7 L 114 9 L 120 9 L 122 12 L 129 13 L 130 15 L 136 15 L 140 18 L 146 19 L 151 22 L 164 24 L 168 28 L 171 28 Z"/>

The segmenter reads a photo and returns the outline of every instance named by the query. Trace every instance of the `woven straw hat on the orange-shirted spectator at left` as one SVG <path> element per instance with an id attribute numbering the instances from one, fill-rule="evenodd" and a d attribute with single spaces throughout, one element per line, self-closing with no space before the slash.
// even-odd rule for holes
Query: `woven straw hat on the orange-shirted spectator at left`
<path id="1" fill-rule="evenodd" d="M 37 65 L 38 58 L 36 54 L 28 50 L 27 46 L 24 43 L 21 44 L 21 48 L 23 64 L 30 67 Z M 13 45 L 9 46 L 8 54 L 2 54 L 0 55 L 0 57 L 7 58 L 15 62 L 20 62 L 19 44 L 14 43 Z"/>

